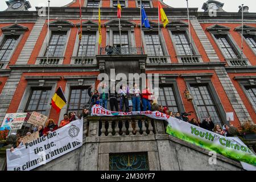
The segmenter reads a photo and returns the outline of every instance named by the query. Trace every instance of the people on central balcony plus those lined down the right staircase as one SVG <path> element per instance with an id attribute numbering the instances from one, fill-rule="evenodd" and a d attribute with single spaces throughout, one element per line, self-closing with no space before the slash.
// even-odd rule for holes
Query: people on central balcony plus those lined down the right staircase
<path id="1" fill-rule="evenodd" d="M 93 86 L 90 86 L 88 89 L 88 94 L 90 96 L 89 110 L 95 104 L 99 104 L 105 109 L 108 109 L 109 100 L 111 111 L 129 112 L 157 110 L 164 114 L 170 115 L 171 117 L 181 119 L 185 122 L 191 123 L 192 125 L 201 127 L 205 130 L 213 131 L 214 133 L 224 135 L 226 137 L 230 137 L 232 135 L 230 134 L 231 130 L 236 130 L 236 128 L 233 126 L 229 127 L 228 125 L 224 125 L 221 127 L 220 125 L 214 125 L 210 117 L 204 118 L 203 121 L 200 122 L 196 118 L 189 119 L 188 116 L 191 115 L 191 112 L 173 113 L 172 111 L 169 111 L 167 107 L 159 106 L 158 104 L 153 103 L 151 100 L 153 94 L 150 92 L 150 90 L 146 87 L 141 92 L 138 85 L 135 83 L 133 84 L 132 88 L 127 85 L 121 85 L 118 92 L 116 92 L 115 86 L 109 89 L 104 83 L 99 86 L 98 90 L 94 89 L 92 92 L 92 88 Z M 132 109 L 130 109 L 130 107 L 132 107 Z"/>

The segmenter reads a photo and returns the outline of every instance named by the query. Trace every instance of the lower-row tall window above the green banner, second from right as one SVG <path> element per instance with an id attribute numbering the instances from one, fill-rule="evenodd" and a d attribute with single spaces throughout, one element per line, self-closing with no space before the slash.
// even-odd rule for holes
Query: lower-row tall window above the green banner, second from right
<path id="1" fill-rule="evenodd" d="M 201 118 L 211 117 L 215 124 L 222 124 L 220 115 L 207 85 L 191 85 L 194 102 Z"/>

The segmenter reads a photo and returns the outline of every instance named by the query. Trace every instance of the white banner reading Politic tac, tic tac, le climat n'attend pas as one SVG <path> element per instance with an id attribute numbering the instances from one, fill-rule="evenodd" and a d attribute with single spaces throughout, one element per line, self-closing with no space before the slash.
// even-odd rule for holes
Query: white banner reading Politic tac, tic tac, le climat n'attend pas
<path id="1" fill-rule="evenodd" d="M 8 171 L 30 171 L 82 146 L 83 121 L 76 120 L 13 152 L 6 150 Z"/>

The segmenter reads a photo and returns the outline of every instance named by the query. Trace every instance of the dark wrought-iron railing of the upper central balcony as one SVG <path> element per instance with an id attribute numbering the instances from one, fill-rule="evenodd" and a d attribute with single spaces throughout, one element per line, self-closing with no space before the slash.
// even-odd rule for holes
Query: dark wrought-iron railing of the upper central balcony
<path id="1" fill-rule="evenodd" d="M 100 55 L 142 55 L 142 47 L 101 47 Z"/>

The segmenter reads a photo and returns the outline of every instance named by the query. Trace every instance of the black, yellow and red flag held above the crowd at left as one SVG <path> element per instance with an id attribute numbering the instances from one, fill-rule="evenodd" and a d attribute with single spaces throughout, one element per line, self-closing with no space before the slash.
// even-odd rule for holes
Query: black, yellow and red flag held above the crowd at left
<path id="1" fill-rule="evenodd" d="M 55 92 L 54 96 L 52 97 L 51 103 L 52 103 L 53 109 L 55 109 L 57 113 L 59 113 L 62 107 L 64 107 L 67 104 L 67 100 L 64 96 L 64 93 L 61 87 L 59 87 Z"/>

